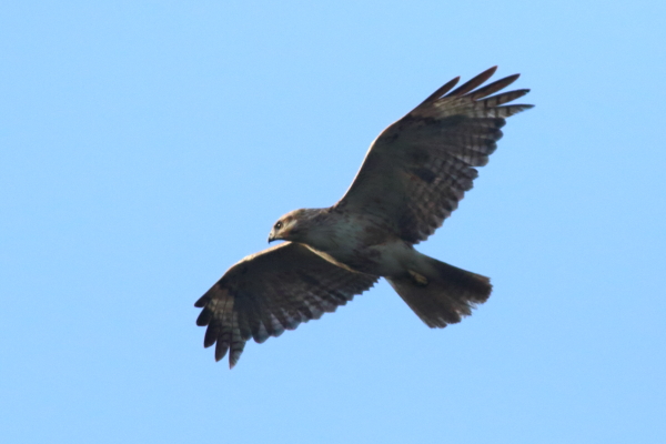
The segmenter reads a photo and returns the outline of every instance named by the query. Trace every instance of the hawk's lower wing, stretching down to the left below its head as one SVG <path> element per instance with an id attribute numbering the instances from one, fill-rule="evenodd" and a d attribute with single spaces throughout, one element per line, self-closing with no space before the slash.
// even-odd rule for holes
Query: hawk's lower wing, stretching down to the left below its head
<path id="1" fill-rule="evenodd" d="M 229 269 L 194 304 L 203 309 L 196 325 L 208 325 L 203 345 L 218 343 L 216 361 L 230 351 L 233 367 L 251 337 L 262 343 L 334 312 L 377 279 L 336 266 L 301 244 L 282 243 Z"/>

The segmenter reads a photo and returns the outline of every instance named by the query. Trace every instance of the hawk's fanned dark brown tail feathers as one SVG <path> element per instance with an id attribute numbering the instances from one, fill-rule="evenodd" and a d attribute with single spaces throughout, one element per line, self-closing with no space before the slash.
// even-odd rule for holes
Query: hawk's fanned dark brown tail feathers
<path id="1" fill-rule="evenodd" d="M 421 255 L 420 270 L 386 280 L 430 327 L 444 327 L 472 314 L 476 304 L 487 301 L 491 280 L 436 259 Z"/>

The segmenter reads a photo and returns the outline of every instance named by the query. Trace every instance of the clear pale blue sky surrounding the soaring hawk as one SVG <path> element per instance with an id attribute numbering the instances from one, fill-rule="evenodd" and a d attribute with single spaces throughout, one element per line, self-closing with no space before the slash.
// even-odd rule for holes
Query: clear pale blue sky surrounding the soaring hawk
<path id="1" fill-rule="evenodd" d="M 666 442 L 666 2 L 7 1 L 0 442 Z M 488 275 L 430 330 L 382 282 L 215 363 L 194 320 L 283 213 L 498 64 L 536 108 L 420 250 Z"/>

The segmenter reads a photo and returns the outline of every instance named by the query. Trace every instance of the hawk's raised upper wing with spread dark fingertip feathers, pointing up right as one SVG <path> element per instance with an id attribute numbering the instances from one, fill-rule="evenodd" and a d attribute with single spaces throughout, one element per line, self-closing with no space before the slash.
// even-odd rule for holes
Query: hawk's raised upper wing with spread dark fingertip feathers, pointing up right
<path id="1" fill-rule="evenodd" d="M 495 69 L 452 92 L 457 79 L 450 81 L 386 128 L 337 205 L 381 220 L 411 243 L 434 233 L 472 189 L 475 167 L 485 165 L 495 151 L 504 119 L 532 108 L 505 105 L 529 90 L 488 97 L 518 74 L 475 90 Z"/>

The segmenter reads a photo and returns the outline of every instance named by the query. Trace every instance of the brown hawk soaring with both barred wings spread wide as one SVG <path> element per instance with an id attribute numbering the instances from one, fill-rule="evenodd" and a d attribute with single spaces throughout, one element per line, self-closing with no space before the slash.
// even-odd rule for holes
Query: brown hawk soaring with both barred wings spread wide
<path id="1" fill-rule="evenodd" d="M 496 68 L 455 90 L 453 79 L 382 131 L 337 203 L 280 218 L 269 242 L 286 242 L 242 259 L 196 301 L 203 345 L 216 343 L 216 361 L 229 352 L 233 367 L 250 339 L 262 343 L 334 312 L 380 278 L 430 327 L 460 322 L 488 299 L 488 278 L 414 245 L 472 189 L 505 118 L 532 108 L 507 104 L 529 90 L 495 94 L 519 74 L 482 87 Z"/>

